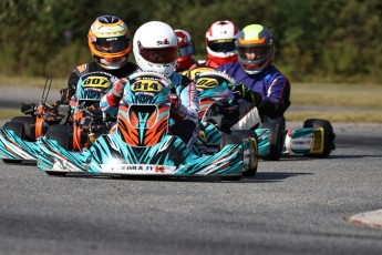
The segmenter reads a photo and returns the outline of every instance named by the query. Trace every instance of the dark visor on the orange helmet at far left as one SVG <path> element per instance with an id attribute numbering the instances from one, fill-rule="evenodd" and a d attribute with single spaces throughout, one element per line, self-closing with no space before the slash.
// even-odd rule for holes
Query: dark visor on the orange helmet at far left
<path id="1" fill-rule="evenodd" d="M 126 37 L 97 38 L 93 44 L 97 51 L 103 53 L 117 53 L 128 48 L 130 39 Z"/>

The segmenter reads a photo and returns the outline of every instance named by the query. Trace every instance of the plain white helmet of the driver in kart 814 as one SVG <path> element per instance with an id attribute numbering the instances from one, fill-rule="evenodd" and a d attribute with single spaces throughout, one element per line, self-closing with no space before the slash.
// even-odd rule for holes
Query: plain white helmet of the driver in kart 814
<path id="1" fill-rule="evenodd" d="M 149 21 L 136 30 L 133 52 L 141 70 L 169 76 L 178 58 L 178 39 L 168 24 Z"/>

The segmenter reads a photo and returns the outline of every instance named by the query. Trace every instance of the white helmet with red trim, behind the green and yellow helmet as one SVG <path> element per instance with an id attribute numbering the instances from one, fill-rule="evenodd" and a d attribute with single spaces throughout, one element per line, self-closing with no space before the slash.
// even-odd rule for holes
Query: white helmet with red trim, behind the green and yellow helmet
<path id="1" fill-rule="evenodd" d="M 238 32 L 238 28 L 229 20 L 214 22 L 206 32 L 208 54 L 215 58 L 237 55 L 235 41 Z"/>

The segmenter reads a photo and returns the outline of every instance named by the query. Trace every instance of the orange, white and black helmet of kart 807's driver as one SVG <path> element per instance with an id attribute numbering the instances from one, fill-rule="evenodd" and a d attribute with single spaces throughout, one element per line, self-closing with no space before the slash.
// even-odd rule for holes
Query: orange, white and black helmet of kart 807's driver
<path id="1" fill-rule="evenodd" d="M 131 35 L 125 22 L 114 16 L 95 19 L 87 33 L 94 60 L 104 69 L 120 69 L 127 62 Z"/>

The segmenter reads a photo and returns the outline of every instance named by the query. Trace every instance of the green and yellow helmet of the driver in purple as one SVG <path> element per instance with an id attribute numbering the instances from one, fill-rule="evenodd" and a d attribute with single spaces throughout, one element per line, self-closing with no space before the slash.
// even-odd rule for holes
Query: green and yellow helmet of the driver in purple
<path id="1" fill-rule="evenodd" d="M 261 24 L 245 27 L 238 34 L 236 48 L 238 61 L 248 74 L 262 72 L 273 61 L 273 38 Z"/>

